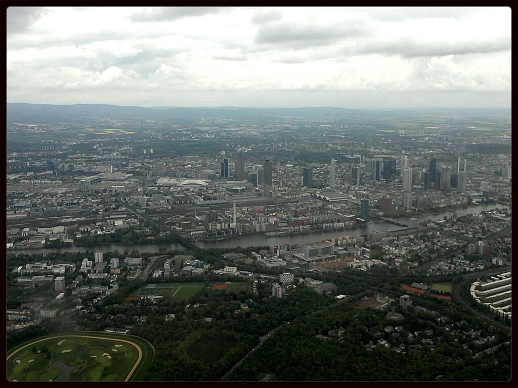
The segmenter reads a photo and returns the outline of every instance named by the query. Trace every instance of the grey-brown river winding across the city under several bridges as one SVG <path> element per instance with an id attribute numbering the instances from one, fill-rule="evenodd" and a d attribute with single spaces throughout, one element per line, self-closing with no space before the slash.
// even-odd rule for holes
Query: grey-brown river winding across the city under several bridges
<path id="1" fill-rule="evenodd" d="M 483 204 L 477 206 L 470 206 L 465 209 L 459 209 L 455 212 L 448 211 L 442 212 L 434 215 L 425 215 L 420 217 L 414 217 L 417 222 L 423 222 L 426 220 L 438 221 L 447 216 L 448 218 L 452 217 L 454 213 L 457 214 L 457 217 L 461 217 L 467 214 L 477 214 L 488 210 L 493 210 L 495 208 L 507 208 L 506 205 L 501 204 Z M 407 219 L 399 218 L 398 221 L 401 223 L 405 223 Z M 231 240 L 223 240 L 223 241 L 198 241 L 195 242 L 197 246 L 200 248 L 232 248 L 232 247 L 250 247 L 250 246 L 265 246 L 265 245 L 281 245 L 281 244 L 310 244 L 310 243 L 318 243 L 322 240 L 326 240 L 332 237 L 346 236 L 346 235 L 363 235 L 370 232 L 378 232 L 378 231 L 391 231 L 401 229 L 400 226 L 393 225 L 392 223 L 386 221 L 380 222 L 371 222 L 366 225 L 364 228 L 357 228 L 354 230 L 343 230 L 343 231 L 326 231 L 326 232 L 316 232 L 316 233 L 307 233 L 307 234 L 299 234 L 292 236 L 277 236 L 277 237 L 268 237 L 264 238 L 263 234 L 248 234 L 242 235 L 240 237 L 232 238 Z M 119 252 L 123 252 L 128 249 L 130 251 L 136 249 L 139 252 L 158 252 L 160 248 L 165 248 L 167 250 L 175 250 L 175 249 L 185 249 L 180 244 L 101 244 L 95 247 L 61 247 L 61 248 L 40 248 L 40 249 L 16 249 L 9 250 L 9 253 L 28 253 L 35 254 L 41 252 L 85 252 L 85 251 L 94 251 L 94 250 L 102 250 L 104 252 L 110 252 L 114 250 L 118 250 Z"/>

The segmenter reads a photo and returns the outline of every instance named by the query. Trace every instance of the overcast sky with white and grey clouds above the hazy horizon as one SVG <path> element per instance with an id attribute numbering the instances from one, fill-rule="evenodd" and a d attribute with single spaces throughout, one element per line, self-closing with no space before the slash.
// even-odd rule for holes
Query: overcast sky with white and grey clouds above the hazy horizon
<path id="1" fill-rule="evenodd" d="M 507 108 L 511 10 L 10 7 L 7 101 Z"/>

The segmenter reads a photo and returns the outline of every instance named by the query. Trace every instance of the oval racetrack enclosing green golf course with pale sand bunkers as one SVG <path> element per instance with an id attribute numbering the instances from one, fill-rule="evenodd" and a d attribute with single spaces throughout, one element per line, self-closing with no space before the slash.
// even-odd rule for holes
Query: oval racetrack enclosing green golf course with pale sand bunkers
<path id="1" fill-rule="evenodd" d="M 145 358 L 148 356 L 145 349 Z M 128 381 L 143 361 L 141 344 L 104 333 L 63 334 L 27 342 L 7 354 L 10 381 Z"/>

